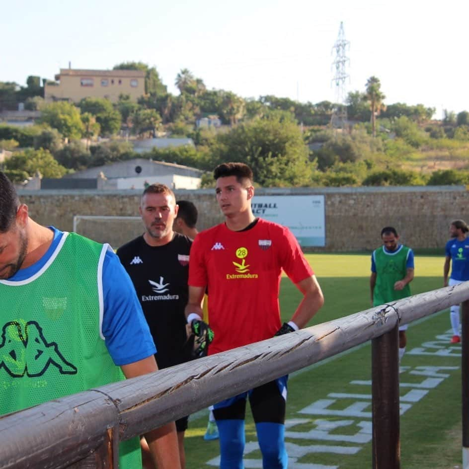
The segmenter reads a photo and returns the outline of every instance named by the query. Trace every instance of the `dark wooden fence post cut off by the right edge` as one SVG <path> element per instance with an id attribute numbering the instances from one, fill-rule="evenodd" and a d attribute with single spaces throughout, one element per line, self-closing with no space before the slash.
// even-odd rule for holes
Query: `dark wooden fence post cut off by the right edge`
<path id="1" fill-rule="evenodd" d="M 463 469 L 469 469 L 469 301 L 461 304 L 461 377 L 463 401 Z"/>

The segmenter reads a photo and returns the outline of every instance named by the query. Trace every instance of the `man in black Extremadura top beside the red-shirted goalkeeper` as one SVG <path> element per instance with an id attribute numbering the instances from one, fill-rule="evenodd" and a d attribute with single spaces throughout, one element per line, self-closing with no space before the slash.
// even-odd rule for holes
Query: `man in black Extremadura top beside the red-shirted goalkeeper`
<path id="1" fill-rule="evenodd" d="M 158 368 L 190 359 L 186 345 L 184 307 L 188 301 L 187 279 L 192 241 L 173 231 L 178 206 L 174 193 L 164 184 L 151 184 L 143 192 L 140 215 L 145 233 L 117 250 L 137 291 L 156 344 Z M 176 421 L 181 458 L 185 467 L 184 432 L 188 417 Z M 146 444 L 142 441 L 144 457 Z"/>

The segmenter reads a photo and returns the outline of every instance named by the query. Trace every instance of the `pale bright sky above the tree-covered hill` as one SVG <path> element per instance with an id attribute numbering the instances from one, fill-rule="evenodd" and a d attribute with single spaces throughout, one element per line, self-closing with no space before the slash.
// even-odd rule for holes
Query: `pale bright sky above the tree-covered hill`
<path id="1" fill-rule="evenodd" d="M 60 68 L 156 67 L 168 91 L 189 69 L 207 88 L 336 101 L 333 46 L 343 23 L 345 94 L 381 80 L 385 104 L 469 110 L 469 1 L 0 0 L 0 81 Z"/>

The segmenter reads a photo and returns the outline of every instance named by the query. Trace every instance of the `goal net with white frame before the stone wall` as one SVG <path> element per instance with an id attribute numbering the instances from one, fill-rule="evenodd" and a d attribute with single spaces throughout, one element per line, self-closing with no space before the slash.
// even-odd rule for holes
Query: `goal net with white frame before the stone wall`
<path id="1" fill-rule="evenodd" d="M 140 217 L 75 215 L 73 231 L 117 249 L 144 232 Z"/>

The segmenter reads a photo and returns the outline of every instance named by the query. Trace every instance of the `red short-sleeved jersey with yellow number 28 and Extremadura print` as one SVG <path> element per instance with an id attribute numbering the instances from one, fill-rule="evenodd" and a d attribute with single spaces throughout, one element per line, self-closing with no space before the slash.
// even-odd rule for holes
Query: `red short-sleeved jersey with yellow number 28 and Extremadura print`
<path id="1" fill-rule="evenodd" d="M 293 283 L 313 275 L 290 230 L 262 219 L 246 231 L 222 223 L 199 233 L 190 257 L 189 286 L 208 287 L 210 355 L 273 337 L 282 269 Z"/>

